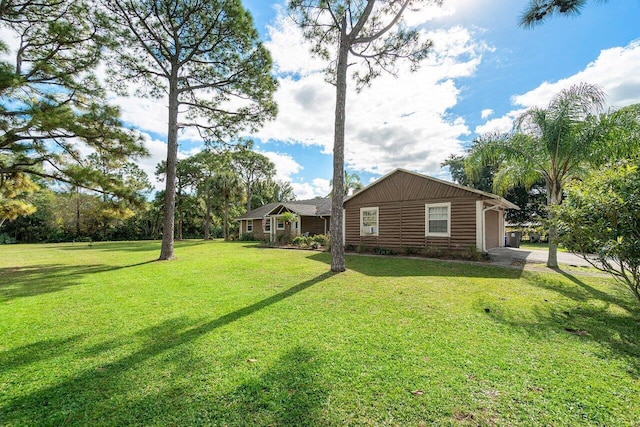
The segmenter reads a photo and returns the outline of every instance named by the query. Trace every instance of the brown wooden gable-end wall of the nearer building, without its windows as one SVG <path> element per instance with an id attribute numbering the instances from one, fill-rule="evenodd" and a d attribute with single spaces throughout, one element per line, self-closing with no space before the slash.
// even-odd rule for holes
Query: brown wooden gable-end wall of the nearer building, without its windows
<path id="1" fill-rule="evenodd" d="M 476 247 L 476 201 L 482 198 L 451 185 L 399 171 L 347 200 L 345 245 L 463 251 Z M 426 237 L 426 203 L 451 203 L 451 235 Z M 378 236 L 360 236 L 360 208 L 378 207 Z"/>

